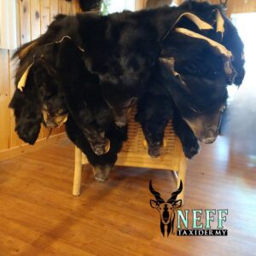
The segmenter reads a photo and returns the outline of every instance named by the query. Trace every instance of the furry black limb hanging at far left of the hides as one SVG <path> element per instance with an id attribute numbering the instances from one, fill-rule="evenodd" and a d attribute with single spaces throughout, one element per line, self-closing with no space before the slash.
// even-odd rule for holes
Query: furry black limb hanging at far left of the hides
<path id="1" fill-rule="evenodd" d="M 25 143 L 34 144 L 38 138 L 43 119 L 41 101 L 38 90 L 34 86 L 32 74 L 28 75 L 23 91 L 15 90 L 9 103 L 9 108 L 14 109 L 15 131 Z"/>

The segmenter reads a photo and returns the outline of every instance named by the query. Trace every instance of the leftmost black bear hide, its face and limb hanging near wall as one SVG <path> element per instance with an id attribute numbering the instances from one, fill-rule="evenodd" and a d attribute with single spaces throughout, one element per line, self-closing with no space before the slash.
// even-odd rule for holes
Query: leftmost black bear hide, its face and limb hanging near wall
<path id="1" fill-rule="evenodd" d="M 25 87 L 15 90 L 9 108 L 15 110 L 15 131 L 26 143 L 33 144 L 38 138 L 41 123 L 49 128 L 59 125 L 56 119 L 67 114 L 64 95 L 59 90 L 60 79 L 55 70 L 57 44 L 36 47 L 32 58 L 23 55 L 17 69 L 15 81 L 18 84 L 26 67 L 33 63 Z M 18 50 L 19 51 L 19 50 Z M 43 118 L 43 112 L 47 113 Z"/>

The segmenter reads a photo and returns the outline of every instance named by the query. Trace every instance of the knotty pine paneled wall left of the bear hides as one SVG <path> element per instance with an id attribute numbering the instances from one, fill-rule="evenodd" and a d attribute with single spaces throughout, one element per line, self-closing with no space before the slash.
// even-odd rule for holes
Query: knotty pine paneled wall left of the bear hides
<path id="1" fill-rule="evenodd" d="M 79 11 L 77 0 L 16 0 L 18 13 L 18 35 L 20 44 L 24 44 L 44 33 L 54 16 L 62 13 L 72 15 Z M 15 63 L 11 61 L 14 51 L 0 49 L 0 160 L 6 156 L 6 150 L 21 148 L 24 143 L 15 133 L 15 119 L 8 108 L 15 90 Z M 64 131 L 58 128 L 53 135 Z M 48 131 L 43 127 L 39 139 L 47 137 Z M 22 147 L 24 148 L 24 147 Z M 23 150 L 23 149 L 22 149 Z M 1 157 L 2 155 L 2 157 Z M 8 154 L 9 155 L 9 154 Z"/>

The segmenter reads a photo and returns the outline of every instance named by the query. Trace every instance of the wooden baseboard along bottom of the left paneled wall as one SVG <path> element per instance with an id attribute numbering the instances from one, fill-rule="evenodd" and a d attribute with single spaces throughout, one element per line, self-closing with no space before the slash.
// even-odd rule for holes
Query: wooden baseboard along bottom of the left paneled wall
<path id="1" fill-rule="evenodd" d="M 66 133 L 62 132 L 60 134 L 49 137 L 48 140 L 45 138 L 39 139 L 34 145 L 23 144 L 15 148 L 9 148 L 7 150 L 0 151 L 0 161 L 8 160 L 21 154 L 26 154 L 28 152 L 38 150 L 38 148 L 42 148 L 51 143 L 56 143 L 65 137 L 67 137 Z"/>

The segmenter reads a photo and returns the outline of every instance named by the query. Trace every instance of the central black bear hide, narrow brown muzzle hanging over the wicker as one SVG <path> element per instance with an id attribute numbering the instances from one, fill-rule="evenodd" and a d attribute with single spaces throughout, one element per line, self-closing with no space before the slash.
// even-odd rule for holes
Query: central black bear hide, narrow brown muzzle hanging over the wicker
<path id="1" fill-rule="evenodd" d="M 108 16 L 78 15 L 85 66 L 97 73 L 102 95 L 113 108 L 117 125 L 148 84 L 160 55 L 160 38 L 172 24 L 174 9 L 123 12 Z M 168 19 L 169 18 L 169 19 Z"/>

